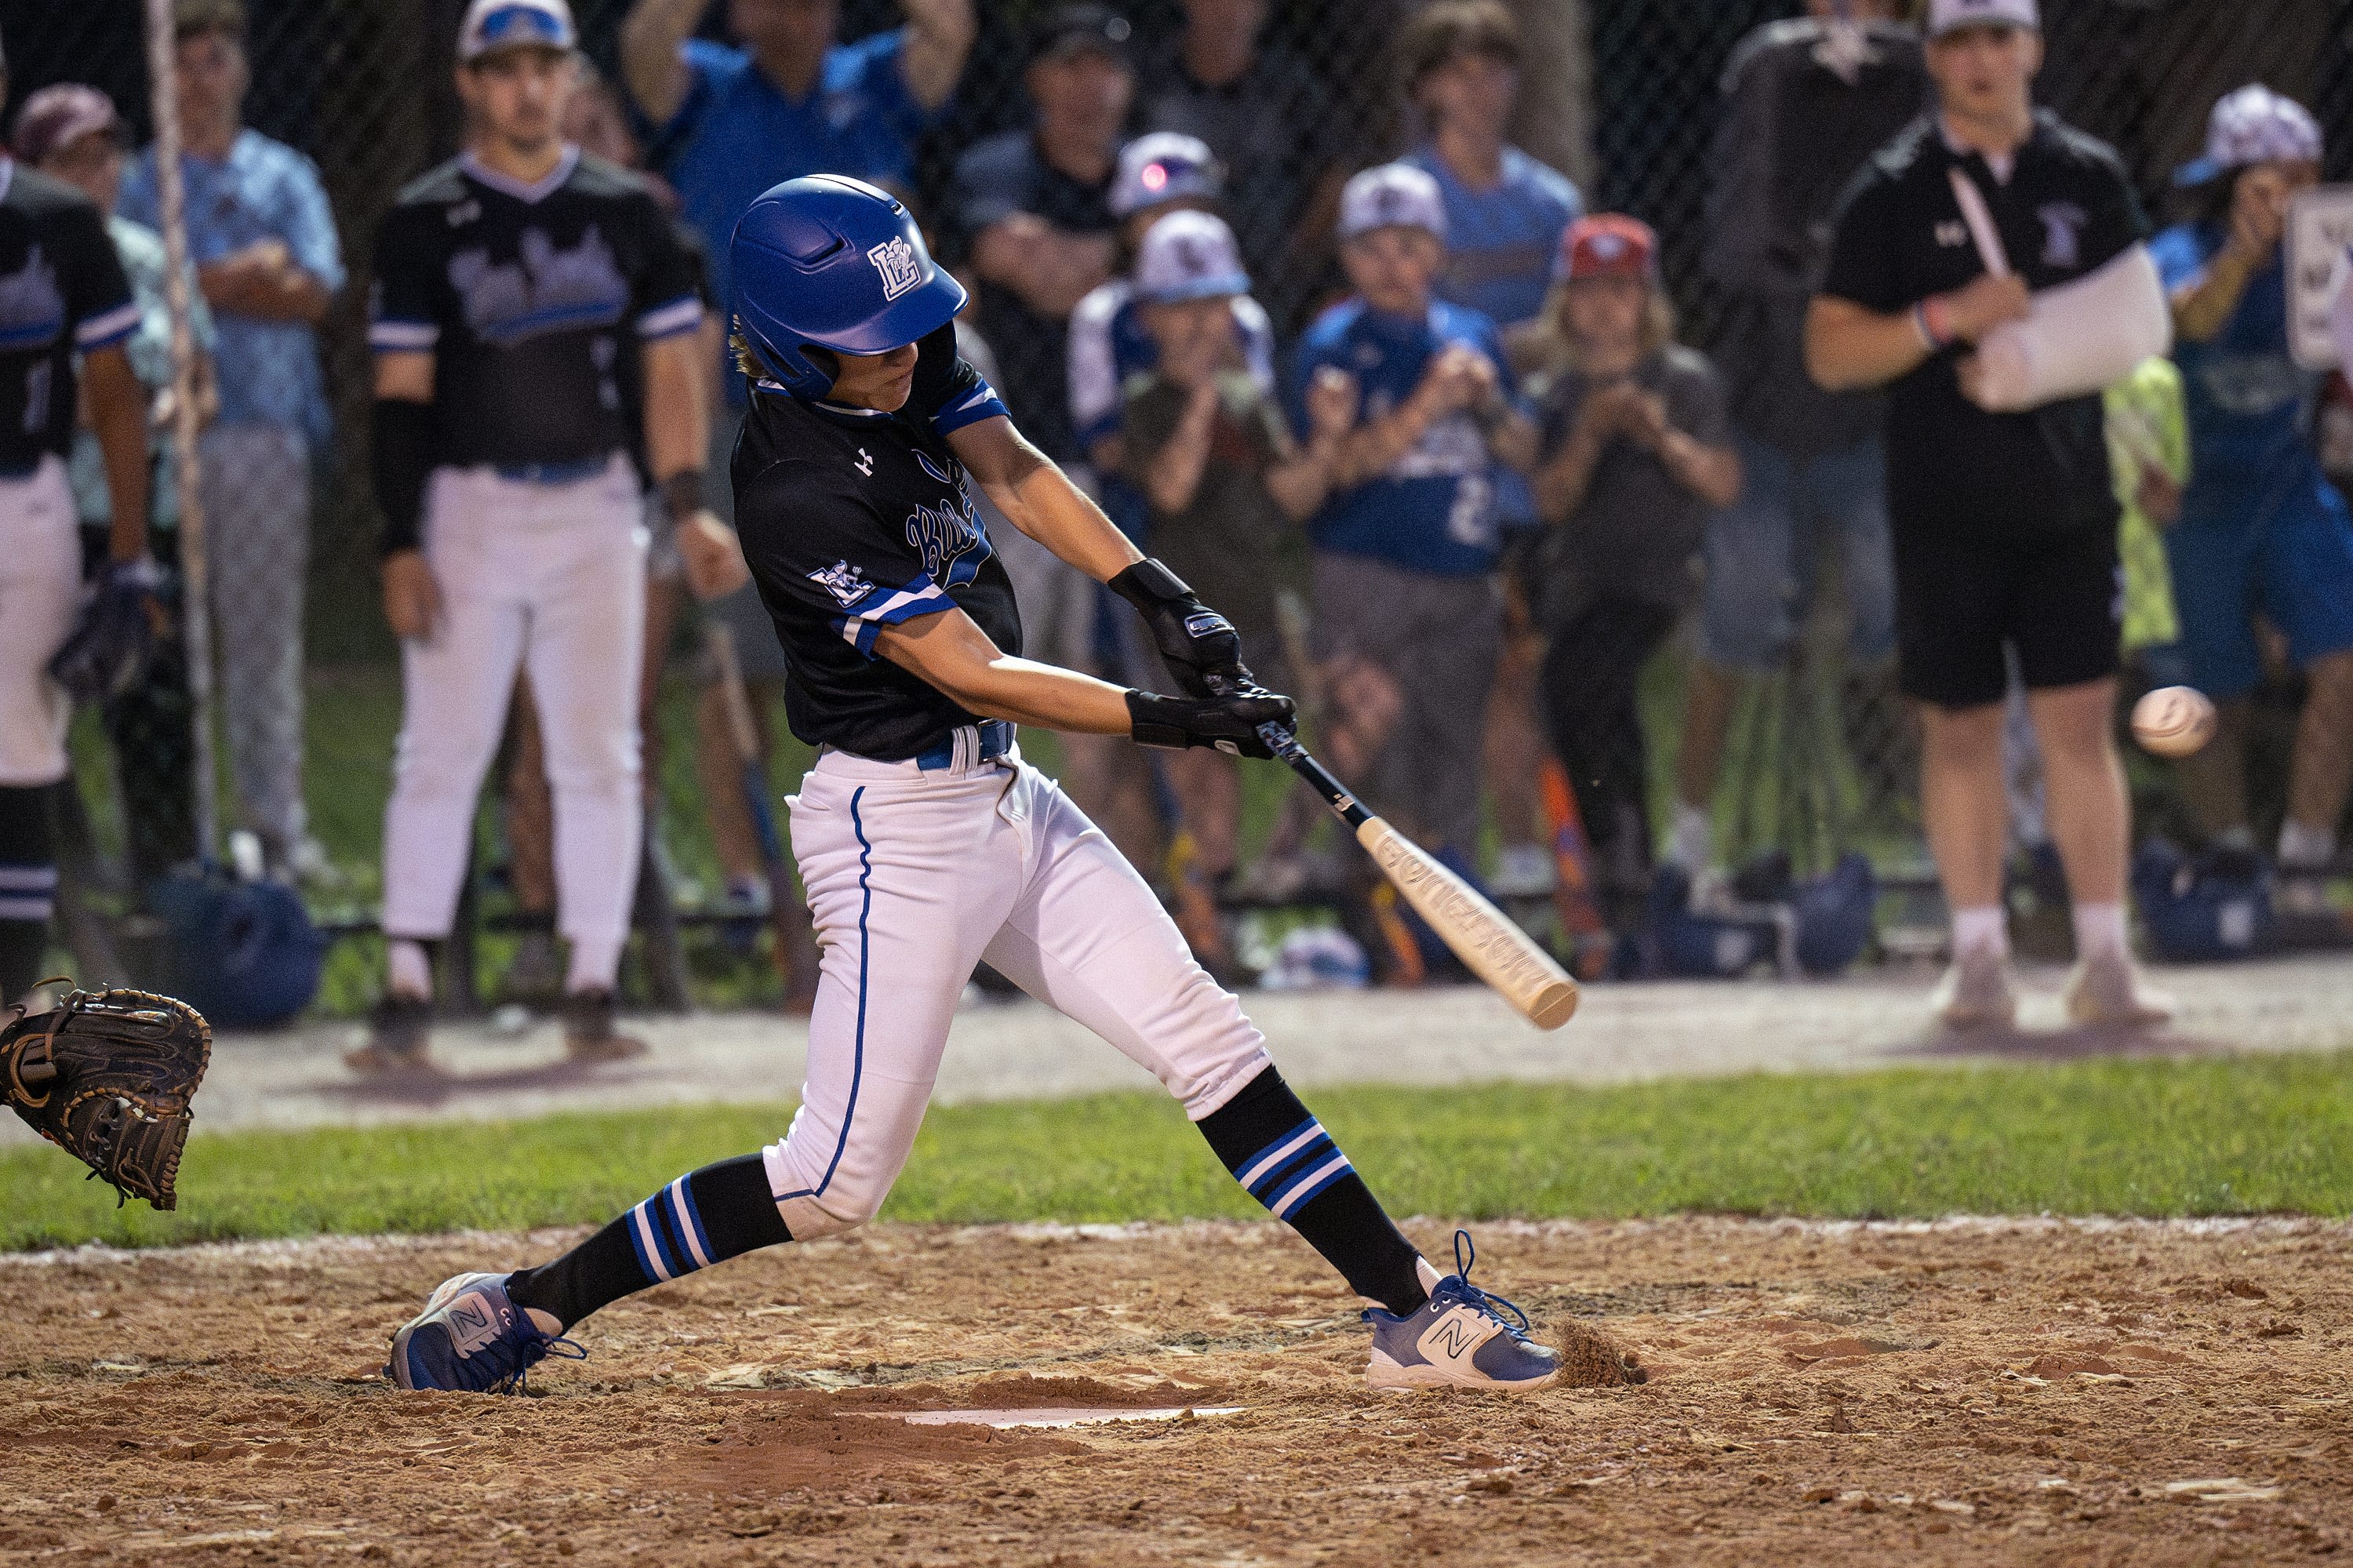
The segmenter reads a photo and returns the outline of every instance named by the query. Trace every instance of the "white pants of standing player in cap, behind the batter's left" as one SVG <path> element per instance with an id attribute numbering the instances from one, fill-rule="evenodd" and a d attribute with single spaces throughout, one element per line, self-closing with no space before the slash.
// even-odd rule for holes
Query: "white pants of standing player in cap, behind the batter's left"
<path id="1" fill-rule="evenodd" d="M 529 485 L 438 469 L 426 563 L 442 622 L 400 645 L 400 751 L 384 810 L 384 932 L 447 937 L 473 810 L 515 666 L 532 673 L 555 796 L 555 923 L 619 961 L 638 885 L 638 659 L 645 511 L 638 476 Z M 605 984 L 612 975 L 602 977 Z"/>

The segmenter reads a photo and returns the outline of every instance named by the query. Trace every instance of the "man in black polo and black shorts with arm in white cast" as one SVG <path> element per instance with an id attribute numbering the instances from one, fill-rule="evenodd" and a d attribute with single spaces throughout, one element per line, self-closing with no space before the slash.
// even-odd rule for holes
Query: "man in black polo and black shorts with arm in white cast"
<path id="1" fill-rule="evenodd" d="M 2125 939 L 2118 506 L 2101 400 L 1988 412 L 1969 348 L 2024 320 L 2033 290 L 2122 257 L 2146 224 L 2115 153 L 2035 113 L 2033 0 L 1934 0 L 1927 64 L 1941 111 L 1849 188 L 1807 365 L 1828 388 L 1889 386 L 1897 655 L 1922 713 L 1922 815 L 1953 911 L 1953 968 L 1934 1005 L 1955 1029 L 2017 1017 L 2002 911 L 2002 692 L 2017 650 L 2073 897 L 2068 1015 L 2158 1022 L 2172 1003 L 2146 989 Z M 2017 271 L 1981 259 L 1962 181 Z"/>

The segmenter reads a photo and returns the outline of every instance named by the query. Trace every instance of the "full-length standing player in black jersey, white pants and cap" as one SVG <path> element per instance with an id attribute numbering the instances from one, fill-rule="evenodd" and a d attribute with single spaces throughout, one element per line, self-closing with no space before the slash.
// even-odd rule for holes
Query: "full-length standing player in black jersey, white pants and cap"
<path id="1" fill-rule="evenodd" d="M 527 664 L 555 791 L 565 1043 L 612 1029 L 638 873 L 645 532 L 631 447 L 680 551 L 734 551 L 701 511 L 704 320 L 645 186 L 558 134 L 574 87 L 565 0 L 475 0 L 459 33 L 468 151 L 402 193 L 376 242 L 376 499 L 402 723 L 384 822 L 386 996 L 360 1071 L 424 1064 L 433 968 L 475 793 Z"/>

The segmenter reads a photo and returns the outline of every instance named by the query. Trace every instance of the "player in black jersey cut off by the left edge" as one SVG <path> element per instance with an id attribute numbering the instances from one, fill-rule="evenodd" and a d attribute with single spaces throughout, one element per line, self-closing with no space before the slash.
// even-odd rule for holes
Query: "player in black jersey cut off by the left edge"
<path id="1" fill-rule="evenodd" d="M 82 596 L 66 485 L 78 379 L 113 499 L 101 593 L 146 598 L 153 584 L 146 388 L 125 353 L 136 330 L 139 304 L 104 214 L 61 179 L 0 155 L 0 1001 L 40 979 L 56 904 L 49 789 L 68 772 L 68 706 L 47 666 Z"/>

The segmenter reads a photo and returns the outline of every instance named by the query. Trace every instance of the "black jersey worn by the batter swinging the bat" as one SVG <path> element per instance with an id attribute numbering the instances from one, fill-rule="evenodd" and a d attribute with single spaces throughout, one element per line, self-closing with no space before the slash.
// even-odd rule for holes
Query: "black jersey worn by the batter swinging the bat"
<path id="1" fill-rule="evenodd" d="M 922 339 L 896 414 L 800 403 L 753 384 L 734 450 L 736 532 L 788 664 L 793 735 L 882 763 L 976 723 L 951 697 L 875 655 L 885 626 L 958 607 L 1005 652 L 1021 612 L 948 433 L 1005 414 L 955 353 L 955 327 Z"/>

